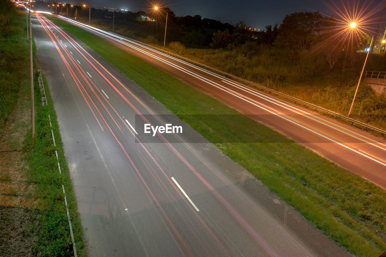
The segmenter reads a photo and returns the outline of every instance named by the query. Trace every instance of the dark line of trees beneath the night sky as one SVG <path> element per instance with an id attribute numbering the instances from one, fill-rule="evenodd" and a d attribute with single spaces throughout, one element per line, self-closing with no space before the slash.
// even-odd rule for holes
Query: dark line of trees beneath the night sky
<path id="1" fill-rule="evenodd" d="M 66 7 L 68 6 L 67 4 Z M 61 15 L 73 17 L 75 8 L 78 17 L 86 18 L 89 15 L 88 8 L 75 6 L 68 8 L 67 14 L 66 7 L 61 9 Z M 331 68 L 342 55 L 352 56 L 358 48 L 365 47 L 369 41 L 368 36 L 361 35 L 356 42 L 349 42 L 349 38 L 344 38 L 342 29 L 334 29 L 338 21 L 334 17 L 323 17 L 319 12 L 295 12 L 286 15 L 280 25 L 267 25 L 264 31 L 251 30 L 244 21 L 231 25 L 202 18 L 200 15 L 177 17 L 168 7 L 162 12 L 168 12 L 167 43 L 177 41 L 188 47 L 228 50 L 243 47 L 247 42 L 249 46 L 265 44 L 269 49 L 271 47 L 285 49 L 289 59 L 306 50 L 312 52 L 312 49 L 315 49 L 325 54 Z M 142 16 L 150 16 L 156 21 L 143 21 Z M 110 10 L 91 8 L 91 19 L 112 20 L 112 18 L 113 12 Z M 125 27 L 132 36 L 152 38 L 158 42 L 164 39 L 165 16 L 157 16 L 157 12 L 114 12 L 114 20 L 120 27 Z M 3 19 L 0 17 L 0 22 L 4 22 L 4 17 Z"/>

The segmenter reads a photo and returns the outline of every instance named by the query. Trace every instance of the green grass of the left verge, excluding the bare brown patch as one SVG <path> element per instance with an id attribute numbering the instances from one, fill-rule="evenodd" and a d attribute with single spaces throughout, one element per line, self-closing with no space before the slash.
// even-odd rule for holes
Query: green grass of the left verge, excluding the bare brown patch
<path id="1" fill-rule="evenodd" d="M 27 32 L 25 29 L 25 15 L 18 14 L 14 4 L 10 1 L 2 1 L 0 18 L 0 131 L 8 121 L 8 117 L 17 106 L 17 101 L 22 98 L 20 105 L 29 105 L 30 96 L 30 70 L 29 70 L 29 41 L 25 39 Z M 9 20 L 7 20 L 9 18 Z M 5 23 L 4 23 L 5 22 Z M 9 23 L 8 23 L 9 22 Z M 33 59 L 36 60 L 36 47 L 33 42 Z M 37 64 L 34 62 L 34 71 L 37 71 Z M 47 82 L 45 81 L 45 85 Z M 83 241 L 83 228 L 77 214 L 77 203 L 74 196 L 69 170 L 64 157 L 63 144 L 59 134 L 58 122 L 49 88 L 46 86 L 47 106 L 42 106 L 41 92 L 38 85 L 37 73 L 34 76 L 34 95 L 35 95 L 35 125 L 36 125 L 36 144 L 31 145 L 31 130 L 24 139 L 22 155 L 25 162 L 22 162 L 24 174 L 22 180 L 26 180 L 27 186 L 32 186 L 32 190 L 22 192 L 24 199 L 32 203 L 27 207 L 8 208 L 0 206 L 0 216 L 2 216 L 1 230 L 10 230 L 12 233 L 4 233 L 0 241 L 7 242 L 5 249 L 7 256 L 16 256 L 17 253 L 24 253 L 31 256 L 71 256 L 68 243 L 71 242 L 69 234 L 68 218 L 64 204 L 64 196 L 61 185 L 66 189 L 66 196 L 69 204 L 71 221 L 74 229 L 74 237 L 78 256 L 86 256 L 85 243 Z M 22 90 L 22 91 L 20 91 Z M 28 111 L 28 109 L 27 109 Z M 30 111 L 29 111 L 30 112 Z M 51 116 L 52 129 L 54 131 L 56 147 L 53 147 L 51 140 L 51 127 L 48 115 Z M 14 122 L 14 130 L 30 127 L 30 121 L 18 120 Z M 12 127 L 12 126 L 8 126 Z M 9 131 L 8 131 L 9 132 Z M 12 134 L 12 133 L 11 133 Z M 7 138 L 7 142 L 12 149 L 21 149 L 18 140 Z M 15 145 L 19 144 L 19 145 Z M 62 174 L 58 172 L 58 161 L 56 160 L 55 150 L 58 151 L 59 162 Z M 25 164 L 25 165 L 24 165 Z M 10 180 L 9 174 L 2 174 L 2 180 Z M 24 183 L 24 182 L 23 182 Z M 13 189 L 10 195 L 17 196 L 21 192 Z M 22 225 L 13 224 L 17 220 L 14 216 L 17 213 L 20 220 L 31 220 L 30 225 L 23 228 Z M 19 217 L 16 215 L 17 217 Z M 14 219 L 15 218 L 15 219 Z M 4 222 L 3 222 L 4 220 Z M 27 222 L 28 223 L 28 222 Z M 17 230 L 17 231 L 16 231 Z M 17 235 L 15 234 L 17 233 Z M 3 235 L 3 236 L 4 236 Z M 29 238 L 29 237 L 37 237 Z M 33 239 L 33 240 L 32 240 Z M 21 252 L 17 249 L 28 243 L 20 244 L 20 241 L 33 244 L 28 249 Z M 15 243 L 15 245 L 12 245 Z M 3 248 L 3 247 L 0 247 Z M 19 255 L 18 255 L 19 256 Z M 20 255 L 21 256 L 21 255 Z"/>

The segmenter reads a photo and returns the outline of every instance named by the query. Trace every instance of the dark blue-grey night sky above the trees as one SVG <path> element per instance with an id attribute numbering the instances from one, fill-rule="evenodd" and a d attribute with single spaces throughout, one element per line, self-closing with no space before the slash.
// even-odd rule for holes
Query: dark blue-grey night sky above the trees
<path id="1" fill-rule="evenodd" d="M 73 0 L 69 3 L 80 4 L 85 0 Z M 153 0 L 154 1 L 154 0 Z M 354 0 L 334 1 L 338 7 L 345 5 L 353 6 Z M 382 0 L 384 2 L 384 0 Z M 143 10 L 146 12 L 148 1 L 143 0 L 87 0 L 91 7 L 111 7 L 126 9 L 130 12 Z M 166 0 L 168 6 L 176 16 L 201 15 L 202 18 L 220 20 L 221 22 L 237 24 L 244 20 L 249 27 L 264 30 L 266 25 L 281 24 L 286 14 L 293 12 L 315 12 L 319 11 L 324 16 L 334 14 L 336 9 L 332 0 Z M 330 8 L 328 5 L 334 7 Z M 379 1 L 359 0 L 359 6 L 371 6 L 371 10 L 381 10 L 383 3 Z M 380 12 L 378 12 L 380 16 Z M 378 21 L 377 21 L 378 22 Z"/>

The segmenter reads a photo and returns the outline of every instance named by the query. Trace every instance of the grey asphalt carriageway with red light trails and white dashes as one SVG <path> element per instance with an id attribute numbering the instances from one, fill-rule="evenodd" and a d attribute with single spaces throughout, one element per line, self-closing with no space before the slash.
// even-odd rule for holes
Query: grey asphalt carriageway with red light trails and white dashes
<path id="1" fill-rule="evenodd" d="M 350 256 L 83 43 L 32 22 L 90 256 Z M 142 142 L 136 122 L 184 133 Z"/>

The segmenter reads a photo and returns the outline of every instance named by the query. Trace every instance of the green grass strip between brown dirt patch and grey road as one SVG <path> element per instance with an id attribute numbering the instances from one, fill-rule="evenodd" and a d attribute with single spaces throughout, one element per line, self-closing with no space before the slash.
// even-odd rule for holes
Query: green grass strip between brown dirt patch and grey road
<path id="1" fill-rule="evenodd" d="M 38 199 L 37 209 L 40 214 L 39 243 L 33 246 L 33 252 L 37 256 L 71 256 L 68 244 L 71 243 L 66 206 L 62 184 L 66 190 L 71 223 L 73 227 L 75 246 L 78 256 L 86 256 L 85 243 L 83 241 L 83 228 L 77 212 L 77 202 L 71 183 L 69 169 L 64 157 L 63 143 L 59 134 L 59 125 L 53 101 L 43 77 L 48 105 L 42 106 L 41 92 L 38 77 L 34 78 L 35 92 L 35 144 L 32 145 L 32 131 L 29 130 L 24 140 L 24 158 L 29 168 L 25 170 L 24 178 L 27 183 L 34 184 L 34 190 L 30 197 Z M 52 127 L 50 125 L 50 119 Z M 54 133 L 55 144 L 52 141 L 51 129 Z M 62 174 L 59 174 L 58 160 L 55 150 L 58 152 Z"/>

